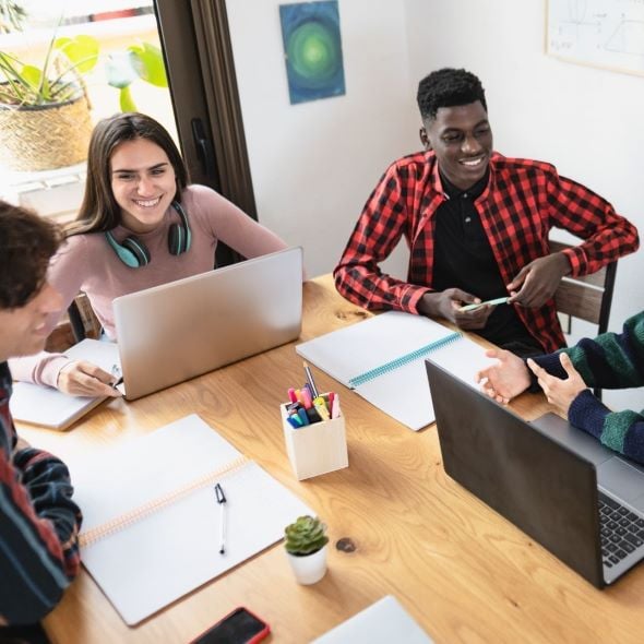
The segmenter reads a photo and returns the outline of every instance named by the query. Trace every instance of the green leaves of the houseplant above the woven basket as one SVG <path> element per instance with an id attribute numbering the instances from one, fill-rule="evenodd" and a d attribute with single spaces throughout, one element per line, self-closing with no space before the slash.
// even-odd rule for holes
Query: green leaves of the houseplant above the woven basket
<path id="1" fill-rule="evenodd" d="M 82 76 L 96 67 L 98 58 L 98 40 L 86 35 L 52 37 L 39 67 L 0 51 L 0 103 L 38 106 L 76 98 L 83 92 Z M 150 43 L 131 45 L 124 51 L 108 55 L 105 69 L 108 84 L 120 91 L 123 111 L 136 110 L 130 94 L 134 80 L 168 86 L 163 53 Z"/>

